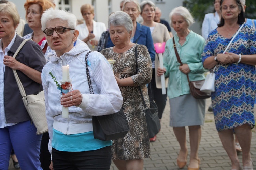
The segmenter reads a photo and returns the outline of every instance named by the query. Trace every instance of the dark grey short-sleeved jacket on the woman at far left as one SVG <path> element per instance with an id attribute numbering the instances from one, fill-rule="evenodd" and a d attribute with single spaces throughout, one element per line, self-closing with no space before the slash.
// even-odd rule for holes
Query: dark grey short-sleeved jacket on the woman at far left
<path id="1" fill-rule="evenodd" d="M 24 39 L 17 34 L 15 41 L 7 54 L 13 56 L 23 40 Z M 27 41 L 22 49 L 20 49 L 15 59 L 40 72 L 42 72 L 43 66 L 46 64 L 41 47 L 34 41 Z M 16 71 L 26 95 L 36 95 L 42 91 L 42 88 L 40 88 L 41 84 L 33 81 L 20 70 Z M 20 94 L 13 71 L 7 66 L 5 67 L 4 72 L 4 108 L 7 123 L 18 123 L 31 120 L 23 104 L 22 95 Z"/>

